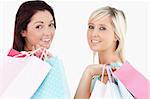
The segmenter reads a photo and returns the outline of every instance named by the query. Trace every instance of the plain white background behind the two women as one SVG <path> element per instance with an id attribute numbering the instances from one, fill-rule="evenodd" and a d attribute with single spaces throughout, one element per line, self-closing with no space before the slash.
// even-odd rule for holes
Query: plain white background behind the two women
<path id="1" fill-rule="evenodd" d="M 12 47 L 15 14 L 22 1 L 0 1 L 0 55 L 6 55 Z M 150 79 L 148 2 L 47 0 L 47 3 L 54 8 L 57 24 L 50 51 L 63 60 L 71 97 L 84 69 L 92 64 L 92 51 L 86 38 L 88 18 L 94 10 L 107 5 L 124 11 L 127 17 L 126 58 Z"/>

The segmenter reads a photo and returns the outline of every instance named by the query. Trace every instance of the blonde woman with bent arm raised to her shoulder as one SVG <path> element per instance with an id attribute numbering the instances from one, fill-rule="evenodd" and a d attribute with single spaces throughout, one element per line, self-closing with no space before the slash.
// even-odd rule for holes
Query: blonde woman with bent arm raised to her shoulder
<path id="1" fill-rule="evenodd" d="M 100 80 L 103 64 L 109 64 L 116 70 L 124 63 L 124 34 L 126 32 L 126 18 L 121 10 L 106 6 L 94 11 L 88 20 L 87 39 L 91 50 L 98 53 L 99 64 L 92 64 L 85 69 L 76 99 L 88 99 L 92 93 L 95 81 Z M 104 74 L 103 83 L 108 81 Z"/>

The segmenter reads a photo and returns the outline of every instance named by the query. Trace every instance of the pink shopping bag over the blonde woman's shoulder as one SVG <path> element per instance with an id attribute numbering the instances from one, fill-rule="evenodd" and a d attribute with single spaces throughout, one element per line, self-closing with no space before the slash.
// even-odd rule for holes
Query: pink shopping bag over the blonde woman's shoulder
<path id="1" fill-rule="evenodd" d="M 129 62 L 125 62 L 114 75 L 125 85 L 136 99 L 150 99 L 150 82 Z"/>

